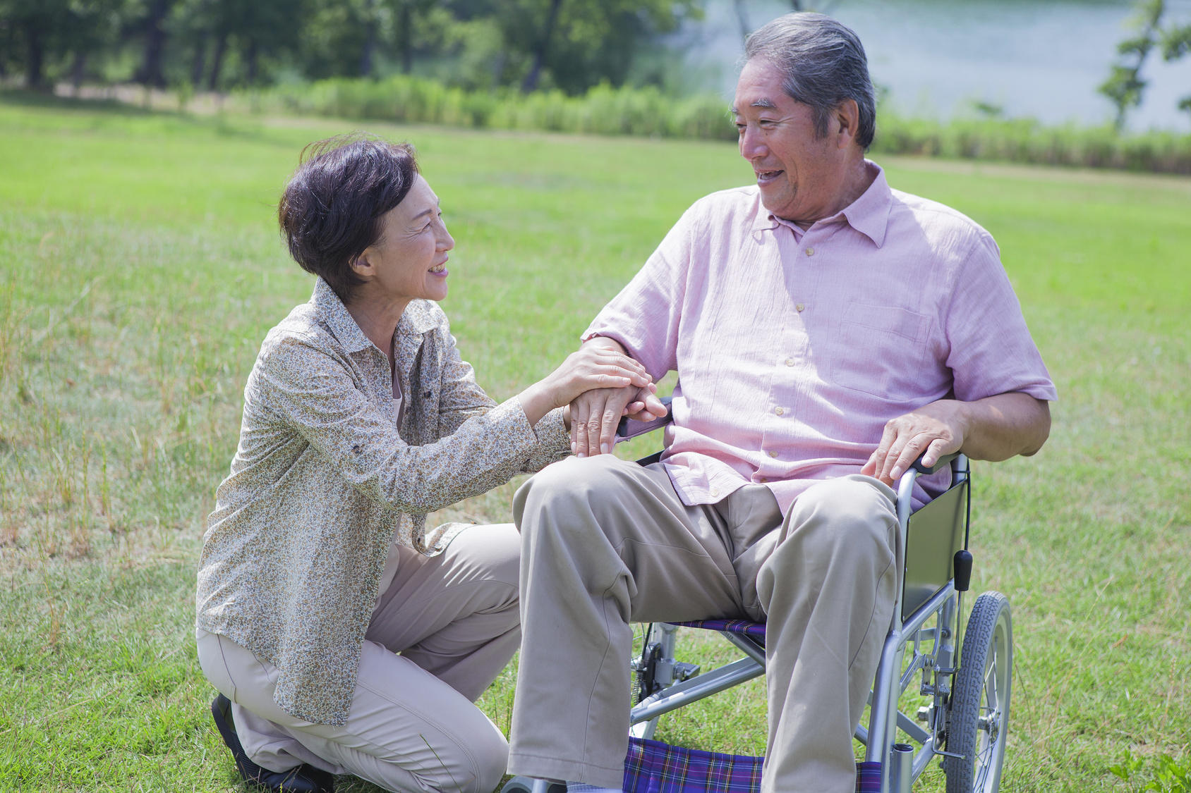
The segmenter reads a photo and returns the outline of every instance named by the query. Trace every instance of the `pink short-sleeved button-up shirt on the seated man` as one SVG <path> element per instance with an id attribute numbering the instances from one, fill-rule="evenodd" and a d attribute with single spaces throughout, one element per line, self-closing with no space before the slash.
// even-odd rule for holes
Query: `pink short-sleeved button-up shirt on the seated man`
<path id="1" fill-rule="evenodd" d="M 785 511 L 858 473 L 891 418 L 1055 399 L 989 232 L 868 168 L 872 186 L 806 231 L 756 187 L 700 199 L 585 332 L 655 379 L 678 371 L 663 462 L 686 504 L 759 482 Z"/>

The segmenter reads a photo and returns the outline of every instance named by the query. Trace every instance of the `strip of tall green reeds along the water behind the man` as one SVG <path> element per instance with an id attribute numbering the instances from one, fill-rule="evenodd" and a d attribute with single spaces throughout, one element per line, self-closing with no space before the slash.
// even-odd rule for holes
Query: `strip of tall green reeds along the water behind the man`
<path id="1" fill-rule="evenodd" d="M 258 112 L 297 113 L 472 129 L 544 130 L 593 135 L 735 141 L 728 104 L 717 96 L 667 96 L 657 88 L 601 83 L 581 96 L 561 90 L 464 90 L 397 75 L 386 80 L 325 80 L 239 94 L 232 102 Z M 877 154 L 1191 174 L 1191 135 L 1121 135 L 1111 126 L 1043 126 L 977 108 L 977 118 L 947 123 L 878 113 Z"/>

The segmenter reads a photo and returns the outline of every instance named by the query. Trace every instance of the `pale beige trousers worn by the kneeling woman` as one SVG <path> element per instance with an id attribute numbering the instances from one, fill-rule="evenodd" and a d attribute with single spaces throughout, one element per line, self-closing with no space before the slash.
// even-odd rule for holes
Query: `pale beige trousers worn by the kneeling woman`
<path id="1" fill-rule="evenodd" d="M 278 707 L 276 668 L 224 636 L 197 632 L 199 663 L 232 701 L 244 750 L 264 768 L 310 763 L 388 791 L 491 793 L 509 745 L 472 703 L 517 650 L 518 556 L 512 524 L 466 529 L 437 556 L 400 549 L 342 726 Z"/>

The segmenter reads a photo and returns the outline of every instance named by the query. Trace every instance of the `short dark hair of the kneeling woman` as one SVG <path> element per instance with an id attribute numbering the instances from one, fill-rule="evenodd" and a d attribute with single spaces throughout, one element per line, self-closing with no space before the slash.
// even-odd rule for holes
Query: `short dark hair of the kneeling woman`
<path id="1" fill-rule="evenodd" d="M 347 135 L 311 143 L 299 162 L 278 205 L 281 233 L 294 261 L 348 302 L 363 283 L 351 263 L 418 176 L 413 146 Z"/>

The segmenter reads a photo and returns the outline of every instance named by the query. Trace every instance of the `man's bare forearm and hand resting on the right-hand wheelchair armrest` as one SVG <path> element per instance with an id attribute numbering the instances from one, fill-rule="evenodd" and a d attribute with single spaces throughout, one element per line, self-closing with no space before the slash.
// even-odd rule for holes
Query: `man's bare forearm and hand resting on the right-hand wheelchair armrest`
<path id="1" fill-rule="evenodd" d="M 893 485 L 918 455 L 928 467 L 954 451 L 973 460 L 1008 460 L 1033 455 L 1049 433 L 1049 405 L 1029 394 L 1008 392 L 974 402 L 940 399 L 890 419 L 860 473 Z"/>

